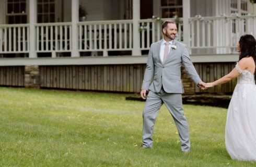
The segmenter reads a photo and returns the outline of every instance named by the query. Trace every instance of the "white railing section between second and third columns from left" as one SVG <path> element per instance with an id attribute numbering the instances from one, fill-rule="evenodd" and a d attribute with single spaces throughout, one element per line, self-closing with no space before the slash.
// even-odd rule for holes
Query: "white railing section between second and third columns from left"
<path id="1" fill-rule="evenodd" d="M 132 50 L 132 20 L 78 23 L 79 52 Z"/>

